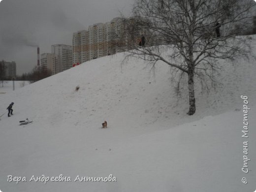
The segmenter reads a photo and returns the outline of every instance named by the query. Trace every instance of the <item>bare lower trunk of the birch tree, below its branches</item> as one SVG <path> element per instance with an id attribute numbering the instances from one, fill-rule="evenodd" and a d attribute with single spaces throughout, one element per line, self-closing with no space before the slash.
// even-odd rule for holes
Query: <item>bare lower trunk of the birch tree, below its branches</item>
<path id="1" fill-rule="evenodd" d="M 189 104 L 190 110 L 187 113 L 188 115 L 193 115 L 195 113 L 195 98 L 194 98 L 194 74 L 193 70 L 189 70 L 188 72 L 188 83 L 189 83 Z"/>

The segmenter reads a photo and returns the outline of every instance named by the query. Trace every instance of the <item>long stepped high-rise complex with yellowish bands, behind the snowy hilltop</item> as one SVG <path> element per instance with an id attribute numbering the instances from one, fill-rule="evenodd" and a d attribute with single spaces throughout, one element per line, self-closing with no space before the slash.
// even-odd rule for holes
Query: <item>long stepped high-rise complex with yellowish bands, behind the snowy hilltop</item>
<path id="1" fill-rule="evenodd" d="M 73 33 L 73 63 L 86 61 L 123 52 L 128 43 L 139 44 L 145 28 L 128 29 L 133 18 L 114 18 L 111 22 L 89 26 L 88 31 Z"/>

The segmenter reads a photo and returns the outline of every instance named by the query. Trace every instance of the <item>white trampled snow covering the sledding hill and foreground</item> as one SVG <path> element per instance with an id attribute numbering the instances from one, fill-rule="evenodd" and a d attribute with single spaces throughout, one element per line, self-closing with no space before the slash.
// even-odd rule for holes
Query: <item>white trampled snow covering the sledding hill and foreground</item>
<path id="1" fill-rule="evenodd" d="M 2 192 L 254 192 L 256 190 L 256 36 L 252 53 L 220 60 L 221 85 L 201 94 L 196 113 L 177 99 L 170 67 L 124 53 L 99 58 L 0 95 Z M 185 84 L 186 85 L 186 84 Z M 76 86 L 79 90 L 75 91 Z M 1 92 L 1 88 L 0 88 Z M 248 96 L 248 138 L 243 105 Z M 32 124 L 19 126 L 29 118 Z M 107 121 L 107 128 L 101 123 Z M 248 141 L 249 173 L 242 171 Z M 30 181 L 32 176 L 71 182 Z M 80 182 L 79 177 L 116 178 Z M 26 182 L 8 182 L 8 175 Z M 242 183 L 246 177 L 248 184 Z"/>

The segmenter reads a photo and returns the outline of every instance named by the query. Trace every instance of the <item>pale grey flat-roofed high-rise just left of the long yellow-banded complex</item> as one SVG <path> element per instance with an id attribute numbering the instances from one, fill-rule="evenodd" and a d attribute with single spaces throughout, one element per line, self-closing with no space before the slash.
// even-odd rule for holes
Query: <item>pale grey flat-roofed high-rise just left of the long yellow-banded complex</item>
<path id="1" fill-rule="evenodd" d="M 58 72 L 72 67 L 73 53 L 71 45 L 52 45 L 52 54 L 55 54 L 59 60 L 59 66 L 57 66 Z"/>

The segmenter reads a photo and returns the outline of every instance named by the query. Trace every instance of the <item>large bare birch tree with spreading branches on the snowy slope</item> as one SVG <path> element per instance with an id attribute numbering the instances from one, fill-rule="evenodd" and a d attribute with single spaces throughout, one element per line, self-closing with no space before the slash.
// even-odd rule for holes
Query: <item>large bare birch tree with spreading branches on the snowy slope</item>
<path id="1" fill-rule="evenodd" d="M 129 29 L 147 29 L 146 46 L 128 38 L 123 42 L 129 56 L 170 65 L 187 74 L 189 112 L 195 113 L 194 78 L 212 76 L 218 59 L 243 55 L 239 34 L 252 28 L 253 0 L 135 0 Z M 128 22 L 129 23 L 129 22 Z M 134 38 L 134 37 L 133 37 Z M 171 49 L 166 55 L 162 45 Z"/>

